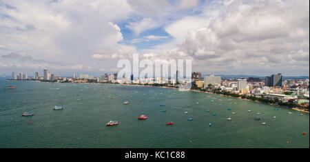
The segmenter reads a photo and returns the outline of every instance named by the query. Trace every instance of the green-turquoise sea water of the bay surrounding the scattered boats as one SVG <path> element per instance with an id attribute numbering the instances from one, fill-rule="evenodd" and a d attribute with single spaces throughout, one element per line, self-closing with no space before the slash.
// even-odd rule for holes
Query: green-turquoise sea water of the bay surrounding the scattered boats
<path id="1" fill-rule="evenodd" d="M 0 148 L 309 148 L 309 114 L 274 108 L 168 88 L 1 80 Z"/>

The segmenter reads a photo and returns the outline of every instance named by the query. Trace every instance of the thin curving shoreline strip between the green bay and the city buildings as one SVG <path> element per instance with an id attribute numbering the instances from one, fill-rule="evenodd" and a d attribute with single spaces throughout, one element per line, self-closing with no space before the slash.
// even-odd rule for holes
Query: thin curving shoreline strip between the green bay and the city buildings
<path id="1" fill-rule="evenodd" d="M 10 79 L 6 79 L 6 81 L 12 81 Z M 27 80 L 25 80 L 27 81 Z M 30 80 L 32 81 L 32 80 Z M 51 83 L 51 82 L 41 82 L 41 81 L 34 81 L 34 82 L 40 82 L 40 83 Z M 61 83 L 61 82 L 56 82 L 56 83 Z M 74 83 L 74 82 L 65 82 L 65 83 Z M 94 82 L 95 83 L 95 82 Z M 90 83 L 88 83 L 90 84 Z M 157 88 L 170 88 L 170 89 L 174 89 L 174 90 L 177 90 L 178 88 L 174 88 L 174 87 L 167 87 L 167 86 L 155 86 L 155 85 L 138 85 L 138 84 L 129 84 L 129 83 L 96 83 L 96 84 L 114 84 L 114 85 L 129 85 L 129 86 L 143 86 L 143 87 L 157 87 Z M 203 91 L 200 91 L 200 90 L 189 90 L 190 92 L 203 92 Z M 220 96 L 223 96 L 223 97 L 231 97 L 231 96 L 225 96 L 223 94 L 216 94 L 216 93 L 212 93 L 212 92 L 203 92 L 203 93 L 207 93 L 207 94 L 215 94 L 215 95 L 220 95 Z M 234 98 L 234 99 L 242 99 L 241 97 L 231 97 L 231 98 Z M 243 100 L 246 100 L 246 101 L 251 101 L 249 99 L 243 99 Z M 260 101 L 252 101 L 252 102 L 256 102 L 256 103 L 261 103 L 261 104 L 267 104 L 267 105 L 273 105 L 273 106 L 276 106 L 278 108 L 287 108 L 285 106 L 282 106 L 282 105 L 274 105 L 272 103 L 263 103 L 263 102 L 260 102 Z M 299 108 L 287 108 L 287 109 L 290 109 L 290 110 L 296 110 L 298 112 L 304 112 L 304 113 L 307 113 L 309 114 L 308 111 L 305 111 L 305 110 L 300 110 Z"/>

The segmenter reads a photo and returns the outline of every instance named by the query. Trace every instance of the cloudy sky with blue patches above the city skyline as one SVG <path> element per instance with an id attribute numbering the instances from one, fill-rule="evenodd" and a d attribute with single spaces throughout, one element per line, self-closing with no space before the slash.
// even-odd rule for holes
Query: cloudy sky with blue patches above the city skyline
<path id="1" fill-rule="evenodd" d="M 203 74 L 309 76 L 309 0 L 0 0 L 0 75 L 192 59 Z"/>

